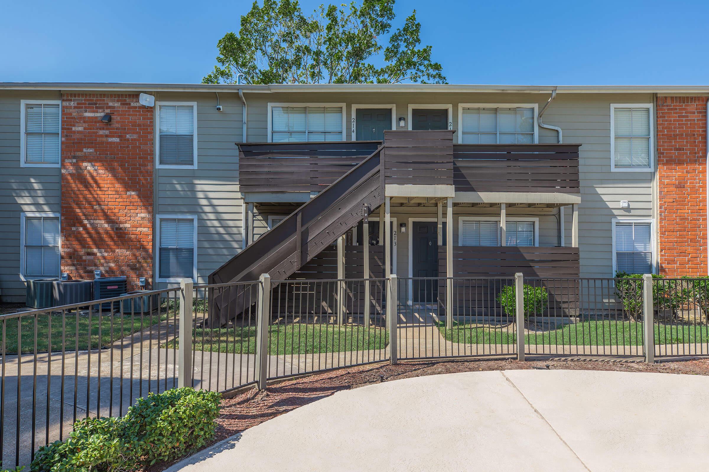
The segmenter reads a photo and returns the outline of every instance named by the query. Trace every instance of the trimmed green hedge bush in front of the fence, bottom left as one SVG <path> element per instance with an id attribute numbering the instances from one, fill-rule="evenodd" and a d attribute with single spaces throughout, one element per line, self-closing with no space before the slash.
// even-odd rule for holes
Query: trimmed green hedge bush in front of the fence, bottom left
<path id="1" fill-rule="evenodd" d="M 36 472 L 119 472 L 177 459 L 214 435 L 220 394 L 174 388 L 148 393 L 123 418 L 77 421 L 65 441 L 41 447 Z"/>

